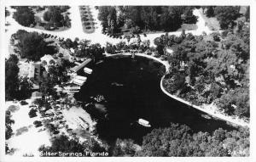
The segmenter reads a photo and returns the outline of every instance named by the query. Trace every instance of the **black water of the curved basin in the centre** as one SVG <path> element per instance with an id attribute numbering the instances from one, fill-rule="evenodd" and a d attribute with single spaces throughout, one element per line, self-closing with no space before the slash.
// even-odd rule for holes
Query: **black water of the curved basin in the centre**
<path id="1" fill-rule="evenodd" d="M 96 131 L 107 142 L 119 137 L 141 143 L 152 129 L 170 126 L 171 122 L 185 124 L 195 132 L 212 132 L 219 127 L 235 129 L 222 120 L 205 119 L 201 111 L 166 96 L 160 89 L 165 67 L 153 59 L 112 57 L 89 66 L 93 73 L 75 97 L 84 103 L 92 102 L 90 97 L 96 95 L 106 99 L 97 109 L 95 106 L 84 109 L 98 120 Z M 79 75 L 85 74 L 81 70 Z M 136 121 L 140 118 L 148 120 L 152 127 L 139 126 Z"/>

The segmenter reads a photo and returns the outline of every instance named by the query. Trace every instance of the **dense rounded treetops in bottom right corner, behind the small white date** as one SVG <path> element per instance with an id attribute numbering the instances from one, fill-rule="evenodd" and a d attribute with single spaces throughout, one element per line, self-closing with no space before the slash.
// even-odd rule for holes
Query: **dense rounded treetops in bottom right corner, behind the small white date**
<path id="1" fill-rule="evenodd" d="M 249 131 L 222 128 L 194 133 L 188 126 L 171 124 L 143 137 L 137 156 L 249 156 Z"/>

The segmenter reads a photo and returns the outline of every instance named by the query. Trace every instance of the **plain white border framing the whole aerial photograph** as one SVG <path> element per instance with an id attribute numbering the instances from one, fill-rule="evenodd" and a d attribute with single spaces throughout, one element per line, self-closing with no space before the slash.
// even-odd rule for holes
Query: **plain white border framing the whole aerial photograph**
<path id="1" fill-rule="evenodd" d="M 157 1 L 148 1 L 148 0 L 1 0 L 0 1 L 0 102 L 1 102 L 1 108 L 0 108 L 0 161 L 206 161 L 212 162 L 212 161 L 256 161 L 256 155 L 255 153 L 255 109 L 256 109 L 256 103 L 253 102 L 253 99 L 256 98 L 255 92 L 255 74 L 256 74 L 256 64 L 253 64 L 255 61 L 255 15 L 256 15 L 256 6 L 255 6 L 255 0 L 157 0 Z M 115 158 L 115 157 L 109 157 L 109 158 L 23 158 L 23 157 L 12 157 L 12 158 L 6 158 L 4 156 L 4 147 L 5 147 L 5 135 L 4 135 L 4 104 L 5 104 L 5 97 L 4 97 L 4 56 L 7 52 L 7 49 L 4 49 L 4 7 L 8 5 L 250 5 L 250 12 L 251 12 L 251 59 L 250 59 L 250 108 L 251 108 L 251 130 L 250 130 L 250 137 L 251 137 L 251 146 L 250 146 L 250 157 L 247 158 L 192 158 L 192 157 L 186 157 L 186 158 Z M 254 45 L 254 46 L 253 46 Z M 40 140 L 40 139 L 38 139 Z M 254 160 L 253 160 L 254 159 Z"/>

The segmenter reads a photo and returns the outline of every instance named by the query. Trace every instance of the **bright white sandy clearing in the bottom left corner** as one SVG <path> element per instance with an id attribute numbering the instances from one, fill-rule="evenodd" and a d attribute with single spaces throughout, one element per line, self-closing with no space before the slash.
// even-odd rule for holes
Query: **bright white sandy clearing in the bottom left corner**
<path id="1" fill-rule="evenodd" d="M 31 103 L 31 100 L 27 99 L 26 102 Z M 12 125 L 13 132 L 16 133 L 16 131 L 23 126 L 27 126 L 28 131 L 19 136 L 13 135 L 13 137 L 7 141 L 9 143 L 9 148 L 15 148 L 14 156 L 22 156 L 24 154 L 39 156 L 38 148 L 43 144 L 46 146 L 50 145 L 48 132 L 38 132 L 38 130 L 43 126 L 36 128 L 33 125 L 33 122 L 35 120 L 40 120 L 40 117 L 29 117 L 28 112 L 31 109 L 29 108 L 29 104 L 22 106 L 20 103 L 13 103 L 9 101 L 6 102 L 6 109 L 8 109 L 10 105 L 17 105 L 20 107 L 19 110 L 12 113 L 11 119 L 15 120 L 15 124 Z"/>

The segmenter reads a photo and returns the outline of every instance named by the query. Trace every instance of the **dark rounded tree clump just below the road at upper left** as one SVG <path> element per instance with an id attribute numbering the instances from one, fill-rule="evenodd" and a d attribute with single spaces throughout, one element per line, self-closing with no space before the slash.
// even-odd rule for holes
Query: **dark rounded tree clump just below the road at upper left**
<path id="1" fill-rule="evenodd" d="M 40 60 L 44 54 L 54 54 L 55 46 L 51 46 L 52 42 L 45 42 L 44 38 L 38 32 L 26 32 L 19 30 L 14 35 L 18 40 L 16 46 L 19 49 L 20 57 L 32 61 Z"/>

